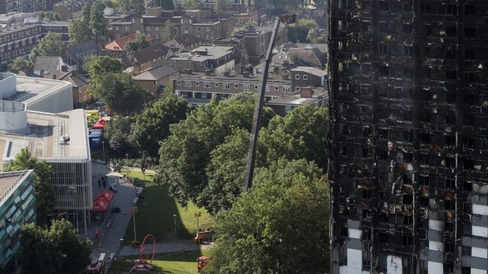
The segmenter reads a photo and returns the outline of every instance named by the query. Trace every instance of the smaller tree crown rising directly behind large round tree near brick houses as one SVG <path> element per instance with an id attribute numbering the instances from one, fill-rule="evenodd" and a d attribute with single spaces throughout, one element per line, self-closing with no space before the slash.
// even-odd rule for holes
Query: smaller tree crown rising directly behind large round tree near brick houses
<path id="1" fill-rule="evenodd" d="M 109 72 L 122 72 L 124 64 L 110 56 L 86 55 L 83 59 L 83 69 L 88 72 L 92 88 L 100 83 L 100 77 Z"/>

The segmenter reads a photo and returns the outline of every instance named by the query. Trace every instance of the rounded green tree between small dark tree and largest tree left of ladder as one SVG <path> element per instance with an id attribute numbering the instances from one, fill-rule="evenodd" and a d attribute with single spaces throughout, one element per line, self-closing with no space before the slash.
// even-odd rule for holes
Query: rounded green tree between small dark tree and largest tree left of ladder
<path id="1" fill-rule="evenodd" d="M 186 118 L 187 102 L 174 94 L 164 97 L 146 108 L 137 118 L 134 141 L 142 151 L 158 157 L 159 142 L 170 135 L 170 125 Z"/>

